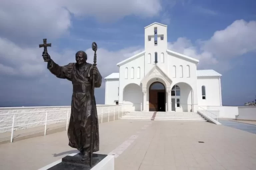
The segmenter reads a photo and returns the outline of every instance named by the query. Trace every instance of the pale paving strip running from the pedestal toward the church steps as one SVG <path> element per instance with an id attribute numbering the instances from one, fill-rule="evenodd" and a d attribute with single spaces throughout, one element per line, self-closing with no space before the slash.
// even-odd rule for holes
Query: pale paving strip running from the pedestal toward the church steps
<path id="1" fill-rule="evenodd" d="M 136 132 L 137 135 L 135 135 L 135 134 L 131 135 L 129 137 L 129 139 L 125 140 L 122 144 L 120 144 L 114 150 L 109 152 L 108 155 L 114 155 L 115 158 L 117 158 L 139 137 L 138 133 L 140 133 L 141 131 L 146 130 L 151 124 L 152 124 L 152 122 L 149 122 L 146 125 L 144 125 L 144 127 L 142 127 L 139 131 Z"/>

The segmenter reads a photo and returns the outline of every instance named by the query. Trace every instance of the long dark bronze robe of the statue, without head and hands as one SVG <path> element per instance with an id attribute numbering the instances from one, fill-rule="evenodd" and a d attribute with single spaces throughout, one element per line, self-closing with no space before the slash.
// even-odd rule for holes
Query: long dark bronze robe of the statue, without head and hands
<path id="1" fill-rule="evenodd" d="M 47 68 L 58 78 L 68 79 L 73 84 L 71 102 L 71 115 L 68 127 L 69 146 L 90 152 L 91 110 L 92 110 L 92 64 L 85 63 L 79 66 L 77 63 L 69 63 L 59 66 L 53 60 L 47 64 Z M 99 71 L 95 75 L 95 87 L 101 86 L 102 76 Z M 95 97 L 94 97 L 95 101 Z M 99 124 L 94 102 L 94 146 L 93 152 L 99 150 Z"/>

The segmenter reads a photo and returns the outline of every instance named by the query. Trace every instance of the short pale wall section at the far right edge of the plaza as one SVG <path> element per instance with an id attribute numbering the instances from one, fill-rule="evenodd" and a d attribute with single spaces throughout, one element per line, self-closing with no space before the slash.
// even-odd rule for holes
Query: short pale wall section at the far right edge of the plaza
<path id="1" fill-rule="evenodd" d="M 256 106 L 238 106 L 238 120 L 256 121 Z"/>

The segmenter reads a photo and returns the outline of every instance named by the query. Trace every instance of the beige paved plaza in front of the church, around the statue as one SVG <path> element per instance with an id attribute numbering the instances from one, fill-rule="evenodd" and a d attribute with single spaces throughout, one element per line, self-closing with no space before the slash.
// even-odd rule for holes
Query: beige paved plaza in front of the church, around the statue
<path id="1" fill-rule="evenodd" d="M 234 126 L 116 120 L 99 128 L 98 153 L 114 154 L 115 170 L 256 169 L 256 134 Z M 62 131 L 1 144 L 0 152 L 1 170 L 37 170 L 77 150 Z"/>

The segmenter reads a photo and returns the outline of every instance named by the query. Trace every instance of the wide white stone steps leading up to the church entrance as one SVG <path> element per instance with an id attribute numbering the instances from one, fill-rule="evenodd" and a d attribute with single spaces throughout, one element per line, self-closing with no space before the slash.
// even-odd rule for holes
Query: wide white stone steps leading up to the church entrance
<path id="1" fill-rule="evenodd" d="M 207 122 L 205 118 L 196 112 L 127 112 L 120 119 Z"/>

